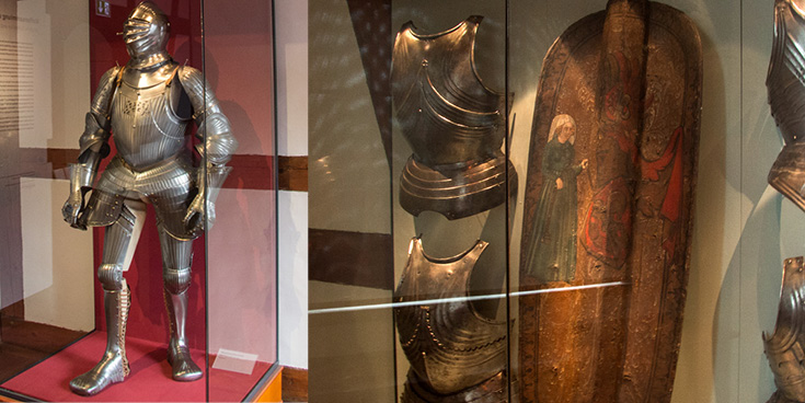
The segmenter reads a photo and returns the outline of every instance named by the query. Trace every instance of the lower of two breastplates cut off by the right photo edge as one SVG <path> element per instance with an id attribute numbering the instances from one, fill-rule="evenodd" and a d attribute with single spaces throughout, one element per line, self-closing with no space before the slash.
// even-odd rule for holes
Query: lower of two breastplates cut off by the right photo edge
<path id="1" fill-rule="evenodd" d="M 785 398 L 805 402 L 805 272 L 803 257 L 786 258 L 774 333 L 763 332 L 763 349 L 774 384 Z"/>

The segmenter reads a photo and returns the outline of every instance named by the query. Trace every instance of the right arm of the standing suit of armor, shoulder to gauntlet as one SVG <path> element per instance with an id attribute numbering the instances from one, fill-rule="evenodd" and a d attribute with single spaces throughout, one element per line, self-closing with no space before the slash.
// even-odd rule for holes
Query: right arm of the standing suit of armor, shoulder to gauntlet
<path id="1" fill-rule="evenodd" d="M 196 145 L 196 151 L 202 156 L 204 166 L 198 169 L 198 195 L 193 199 L 185 215 L 185 226 L 193 232 L 204 229 L 204 200 L 207 200 L 208 228 L 215 222 L 215 200 L 226 181 L 229 171 L 226 163 L 232 159 L 238 149 L 238 140 L 232 136 L 229 119 L 221 113 L 209 85 L 206 84 L 202 72 L 192 67 L 182 67 L 179 71 L 182 82 L 193 106 L 193 119 L 198 130 L 196 137 L 202 140 Z M 206 168 L 205 168 L 206 166 Z M 206 174 L 206 177 L 205 177 Z"/>

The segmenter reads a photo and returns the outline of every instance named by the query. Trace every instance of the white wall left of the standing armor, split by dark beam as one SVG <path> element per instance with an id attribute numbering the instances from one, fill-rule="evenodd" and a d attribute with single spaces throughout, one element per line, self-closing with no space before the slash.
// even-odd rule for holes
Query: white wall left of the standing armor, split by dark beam
<path id="1" fill-rule="evenodd" d="M 77 148 L 90 104 L 87 4 L 27 0 L 16 5 L 19 16 L 30 19 L 14 28 L 18 41 L 34 49 L 35 116 L 33 126 L 22 125 L 19 146 Z M 92 232 L 71 229 L 61 218 L 67 181 L 24 177 L 20 187 L 25 320 L 93 330 Z"/>

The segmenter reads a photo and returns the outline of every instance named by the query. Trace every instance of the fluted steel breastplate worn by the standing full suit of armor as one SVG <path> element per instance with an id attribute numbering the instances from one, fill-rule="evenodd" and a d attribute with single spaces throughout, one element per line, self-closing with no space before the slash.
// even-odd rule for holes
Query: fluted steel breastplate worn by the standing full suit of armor
<path id="1" fill-rule="evenodd" d="M 112 101 L 112 133 L 117 154 L 141 171 L 184 149 L 188 118 L 174 112 L 182 95 L 172 81 L 174 64 L 154 72 L 127 69 Z M 173 84 L 171 84 L 173 83 Z"/>

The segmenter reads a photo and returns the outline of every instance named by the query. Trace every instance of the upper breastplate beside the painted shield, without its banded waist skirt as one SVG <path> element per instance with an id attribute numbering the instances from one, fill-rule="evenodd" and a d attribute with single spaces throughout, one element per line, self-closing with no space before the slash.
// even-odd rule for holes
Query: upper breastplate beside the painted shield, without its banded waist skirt
<path id="1" fill-rule="evenodd" d="M 436 35 L 407 23 L 396 36 L 392 95 L 403 135 L 428 165 L 483 161 L 501 149 L 502 94 L 475 74 L 472 50 L 480 16 Z"/>

